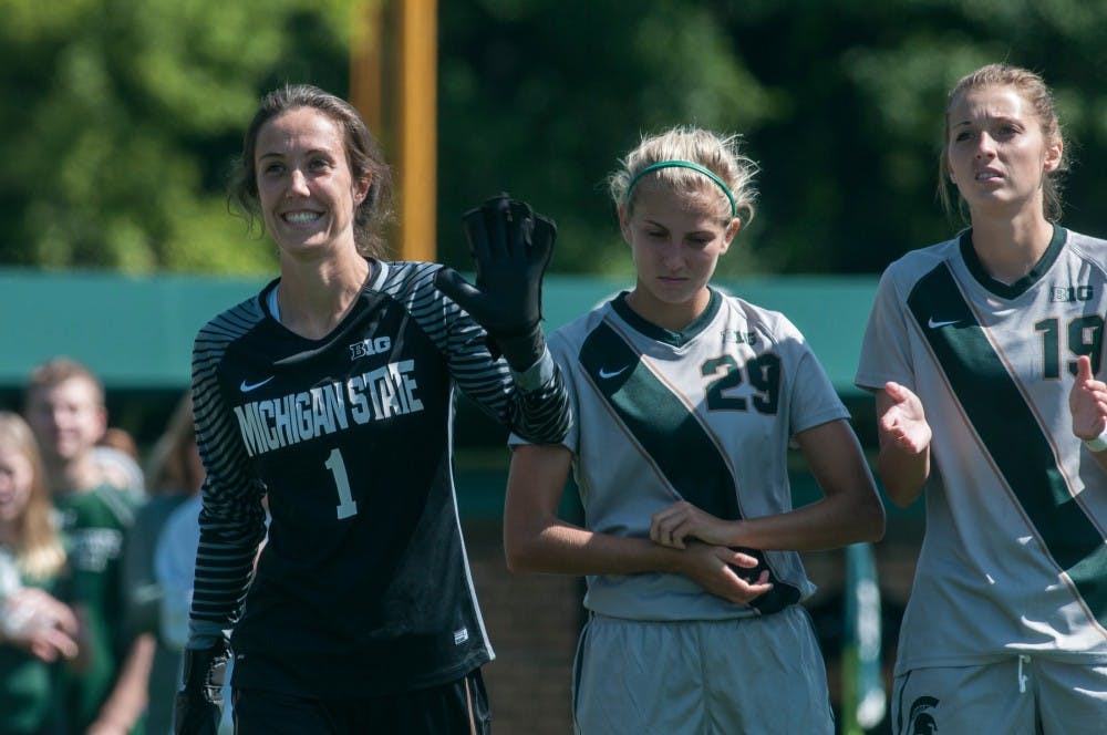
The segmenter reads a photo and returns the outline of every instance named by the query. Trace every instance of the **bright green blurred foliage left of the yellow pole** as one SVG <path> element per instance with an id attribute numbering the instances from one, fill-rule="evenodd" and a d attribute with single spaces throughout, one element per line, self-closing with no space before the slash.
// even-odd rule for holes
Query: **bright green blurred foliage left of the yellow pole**
<path id="1" fill-rule="evenodd" d="M 269 269 L 227 214 L 226 166 L 261 90 L 345 89 L 348 15 L 344 0 L 0 0 L 0 262 Z"/>

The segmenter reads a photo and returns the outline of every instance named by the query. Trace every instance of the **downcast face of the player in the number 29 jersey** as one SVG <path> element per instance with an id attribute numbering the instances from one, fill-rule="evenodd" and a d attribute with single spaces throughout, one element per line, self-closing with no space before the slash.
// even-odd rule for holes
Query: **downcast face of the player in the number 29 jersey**
<path id="1" fill-rule="evenodd" d="M 676 331 L 707 308 L 707 281 L 739 224 L 720 216 L 720 207 L 730 205 L 716 194 L 708 187 L 682 194 L 645 184 L 635 189 L 633 207 L 620 209 L 638 276 L 628 302 L 643 319 Z"/>

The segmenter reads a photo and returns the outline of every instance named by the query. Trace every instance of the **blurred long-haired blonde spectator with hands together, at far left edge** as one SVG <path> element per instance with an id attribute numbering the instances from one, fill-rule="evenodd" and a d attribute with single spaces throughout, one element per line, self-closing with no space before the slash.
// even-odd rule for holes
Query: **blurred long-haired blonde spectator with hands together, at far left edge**
<path id="1" fill-rule="evenodd" d="M 30 427 L 0 412 L 0 732 L 66 732 L 55 703 L 62 663 L 79 652 L 65 551 Z"/>

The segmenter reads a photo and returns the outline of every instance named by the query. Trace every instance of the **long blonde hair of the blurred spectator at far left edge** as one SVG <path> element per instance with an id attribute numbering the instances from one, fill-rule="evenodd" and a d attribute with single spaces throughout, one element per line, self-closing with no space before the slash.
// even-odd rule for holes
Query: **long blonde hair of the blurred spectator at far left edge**
<path id="1" fill-rule="evenodd" d="M 31 495 L 17 529 L 15 565 L 31 579 L 49 579 L 65 566 L 65 549 L 53 521 L 53 504 L 46 489 L 39 445 L 22 416 L 0 411 L 0 445 L 22 454 L 31 463 Z"/>

